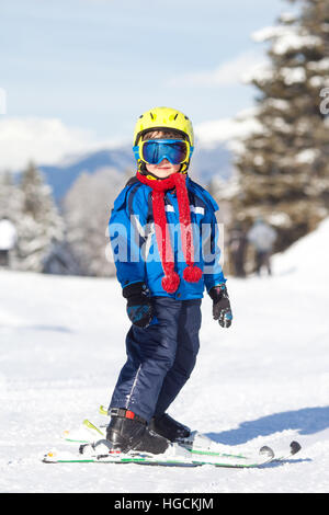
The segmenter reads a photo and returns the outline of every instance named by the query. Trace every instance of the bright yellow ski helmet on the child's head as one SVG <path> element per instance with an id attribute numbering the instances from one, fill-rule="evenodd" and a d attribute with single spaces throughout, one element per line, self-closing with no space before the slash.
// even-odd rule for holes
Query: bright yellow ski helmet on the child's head
<path id="1" fill-rule="evenodd" d="M 186 139 L 191 147 L 194 147 L 194 133 L 191 121 L 181 111 L 172 107 L 155 107 L 143 113 L 135 126 L 134 147 L 138 146 L 140 138 L 149 130 L 175 130 Z M 140 168 L 138 162 L 138 168 Z M 186 171 L 189 163 L 182 165 L 181 171 Z"/>

